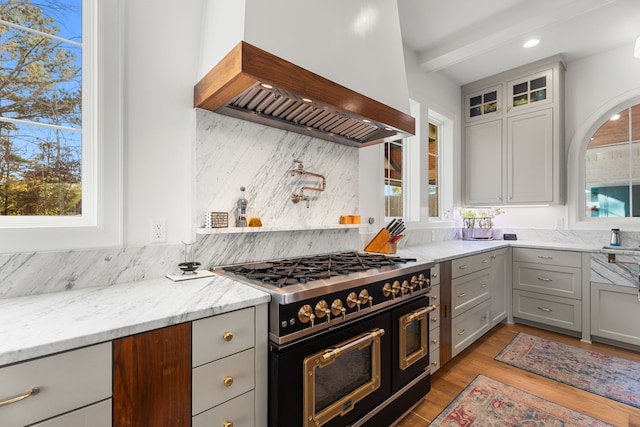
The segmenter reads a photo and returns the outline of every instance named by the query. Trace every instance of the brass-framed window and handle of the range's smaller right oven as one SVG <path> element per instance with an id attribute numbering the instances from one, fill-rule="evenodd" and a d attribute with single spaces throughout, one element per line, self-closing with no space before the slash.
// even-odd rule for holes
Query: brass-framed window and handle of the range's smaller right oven
<path id="1" fill-rule="evenodd" d="M 426 356 L 427 313 L 435 306 L 423 307 L 400 317 L 400 369 L 405 370 Z"/>

